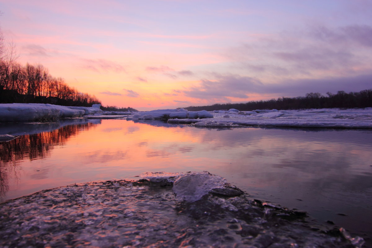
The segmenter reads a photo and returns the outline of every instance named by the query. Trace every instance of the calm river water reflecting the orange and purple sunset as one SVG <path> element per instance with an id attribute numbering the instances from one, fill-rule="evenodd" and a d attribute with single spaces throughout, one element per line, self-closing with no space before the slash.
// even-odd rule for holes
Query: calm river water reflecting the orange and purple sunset
<path id="1" fill-rule="evenodd" d="M 22 130 L 33 124 L 19 125 Z M 72 183 L 135 179 L 148 171 L 207 170 L 252 198 L 305 210 L 366 238 L 372 236 L 371 148 L 371 130 L 82 120 L 0 142 L 1 201 Z"/>

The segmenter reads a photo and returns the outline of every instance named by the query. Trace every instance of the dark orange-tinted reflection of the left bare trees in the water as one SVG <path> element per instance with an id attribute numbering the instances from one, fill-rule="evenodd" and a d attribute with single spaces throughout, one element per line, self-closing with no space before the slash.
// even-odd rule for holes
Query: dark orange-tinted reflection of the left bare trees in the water
<path id="1" fill-rule="evenodd" d="M 88 130 L 97 123 L 87 122 L 63 126 L 52 131 L 19 136 L 7 142 L 0 142 L 0 199 L 9 190 L 8 181 L 18 181 L 22 160 L 37 160 L 48 157 L 55 146 L 64 145 L 67 140 L 78 133 Z"/>

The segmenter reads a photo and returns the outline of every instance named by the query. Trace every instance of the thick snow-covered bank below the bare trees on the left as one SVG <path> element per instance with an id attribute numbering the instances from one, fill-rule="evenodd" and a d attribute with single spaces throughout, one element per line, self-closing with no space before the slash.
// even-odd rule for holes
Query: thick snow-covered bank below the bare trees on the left
<path id="1" fill-rule="evenodd" d="M 101 109 L 93 107 L 67 107 L 43 103 L 6 103 L 0 104 L 0 122 L 43 121 L 65 117 L 81 117 L 99 113 Z"/>

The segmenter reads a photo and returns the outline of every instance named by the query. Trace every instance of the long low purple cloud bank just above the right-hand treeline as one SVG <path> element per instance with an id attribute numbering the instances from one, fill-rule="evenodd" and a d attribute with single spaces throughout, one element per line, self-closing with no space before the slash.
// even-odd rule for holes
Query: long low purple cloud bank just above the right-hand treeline
<path id="1" fill-rule="evenodd" d="M 277 97 L 305 96 L 306 93 L 328 91 L 336 93 L 361 91 L 372 88 L 372 73 L 350 77 L 302 78 L 283 80 L 277 84 L 263 84 L 261 81 L 240 75 L 218 75 L 217 80 L 201 80 L 199 86 L 183 90 L 183 94 L 196 99 L 229 101 L 228 97 L 247 99 L 249 94 L 271 94 Z"/>

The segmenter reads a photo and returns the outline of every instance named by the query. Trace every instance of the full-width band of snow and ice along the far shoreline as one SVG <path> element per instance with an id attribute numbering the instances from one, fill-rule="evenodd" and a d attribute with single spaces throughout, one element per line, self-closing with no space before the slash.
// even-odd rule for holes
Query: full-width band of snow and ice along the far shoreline
<path id="1" fill-rule="evenodd" d="M 208 112 L 185 109 L 159 109 L 147 112 L 104 112 L 96 107 L 66 107 L 52 104 L 0 104 L 0 122 L 46 121 L 60 118 L 126 119 L 135 121 L 165 119 L 168 123 L 196 127 L 298 127 L 372 128 L 372 108 L 253 110 L 236 109 Z"/>

